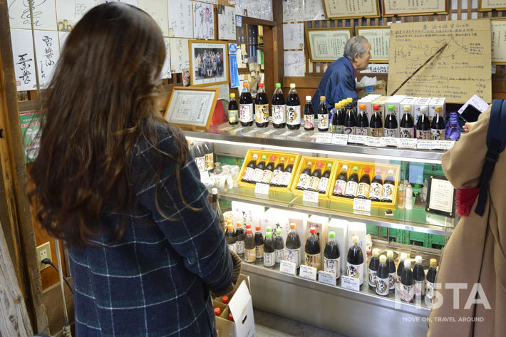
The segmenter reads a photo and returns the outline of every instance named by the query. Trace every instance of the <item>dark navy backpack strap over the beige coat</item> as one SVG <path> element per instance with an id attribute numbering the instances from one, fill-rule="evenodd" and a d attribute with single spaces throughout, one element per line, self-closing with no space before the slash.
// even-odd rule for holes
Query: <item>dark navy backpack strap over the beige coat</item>
<path id="1" fill-rule="evenodd" d="M 487 155 L 480 178 L 480 195 L 475 213 L 483 215 L 487 202 L 488 182 L 494 172 L 495 163 L 506 145 L 506 100 L 493 100 L 487 131 Z"/>

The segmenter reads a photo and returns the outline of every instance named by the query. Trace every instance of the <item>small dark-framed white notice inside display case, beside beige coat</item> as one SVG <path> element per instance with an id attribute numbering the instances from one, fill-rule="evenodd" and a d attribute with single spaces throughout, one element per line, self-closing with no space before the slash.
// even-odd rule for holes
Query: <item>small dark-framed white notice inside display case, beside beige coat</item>
<path id="1" fill-rule="evenodd" d="M 427 212 L 454 217 L 455 189 L 448 179 L 442 175 L 429 175 L 427 189 Z"/>

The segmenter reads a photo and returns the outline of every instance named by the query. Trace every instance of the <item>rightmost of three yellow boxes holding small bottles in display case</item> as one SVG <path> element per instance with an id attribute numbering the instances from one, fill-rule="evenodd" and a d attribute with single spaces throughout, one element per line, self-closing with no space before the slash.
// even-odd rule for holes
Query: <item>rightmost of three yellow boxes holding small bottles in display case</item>
<path id="1" fill-rule="evenodd" d="M 393 170 L 393 195 L 391 202 L 371 202 L 371 207 L 381 207 L 387 209 L 396 209 L 397 208 L 397 190 L 399 183 L 399 174 L 401 172 L 401 167 L 398 165 L 388 165 L 388 164 L 375 164 L 373 162 L 353 162 L 350 160 L 336 160 L 334 175 L 331 177 L 331 190 L 329 192 L 329 199 L 344 202 L 346 204 L 353 204 L 353 198 L 348 197 L 336 197 L 334 194 L 334 186 L 336 185 L 337 177 L 342 171 L 343 165 L 348 166 L 348 170 L 346 172 L 346 177 L 349 179 L 351 173 L 353 172 L 353 167 L 358 167 L 358 182 L 360 182 L 362 175 L 365 173 L 365 168 L 369 168 L 369 178 L 370 182 L 373 181 L 376 176 L 376 170 L 381 171 L 381 181 L 384 183 L 388 170 Z M 371 191 L 369 191 L 371 192 Z M 369 193 L 370 194 L 370 193 Z"/>

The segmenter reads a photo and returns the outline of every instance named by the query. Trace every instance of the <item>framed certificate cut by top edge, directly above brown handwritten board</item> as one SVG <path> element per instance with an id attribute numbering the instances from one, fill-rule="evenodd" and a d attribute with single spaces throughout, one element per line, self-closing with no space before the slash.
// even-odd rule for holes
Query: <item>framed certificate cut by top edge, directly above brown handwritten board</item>
<path id="1" fill-rule="evenodd" d="M 448 0 L 383 0 L 383 16 L 448 14 Z"/>

